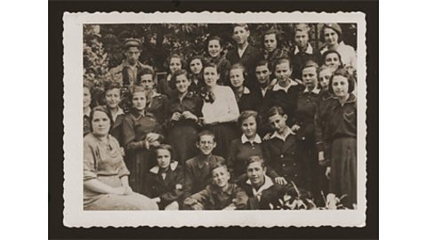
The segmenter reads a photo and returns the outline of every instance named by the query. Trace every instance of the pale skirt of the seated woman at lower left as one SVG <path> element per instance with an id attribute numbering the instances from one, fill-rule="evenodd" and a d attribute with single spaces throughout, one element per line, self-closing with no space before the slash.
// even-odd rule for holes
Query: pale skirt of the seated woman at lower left
<path id="1" fill-rule="evenodd" d="M 113 187 L 121 187 L 117 175 L 99 176 L 98 180 Z M 85 189 L 85 210 L 157 210 L 158 206 L 149 197 L 132 193 L 130 195 L 100 194 Z"/>

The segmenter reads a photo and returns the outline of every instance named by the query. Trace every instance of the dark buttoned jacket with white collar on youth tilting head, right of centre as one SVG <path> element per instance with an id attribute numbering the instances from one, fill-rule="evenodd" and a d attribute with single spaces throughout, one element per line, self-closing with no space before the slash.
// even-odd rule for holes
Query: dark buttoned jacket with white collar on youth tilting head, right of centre
<path id="1" fill-rule="evenodd" d="M 289 128 L 285 131 L 285 137 L 274 132 L 270 140 L 264 141 L 267 175 L 273 180 L 284 177 L 287 182 L 292 180 L 297 187 L 304 188 L 307 182 L 307 164 L 300 157 L 301 151 L 294 132 Z"/>

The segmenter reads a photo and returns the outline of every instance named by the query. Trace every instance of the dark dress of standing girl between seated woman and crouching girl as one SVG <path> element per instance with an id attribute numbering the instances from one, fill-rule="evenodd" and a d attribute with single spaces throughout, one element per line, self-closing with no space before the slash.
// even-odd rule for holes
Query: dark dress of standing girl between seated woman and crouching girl
<path id="1" fill-rule="evenodd" d="M 147 174 L 155 164 L 153 159 L 156 159 L 146 142 L 149 132 L 160 132 L 160 125 L 155 116 L 148 112 L 141 115 L 134 108 L 125 115 L 123 121 L 125 163 L 131 172 L 129 185 L 133 191 L 139 193 L 143 192 Z"/>

